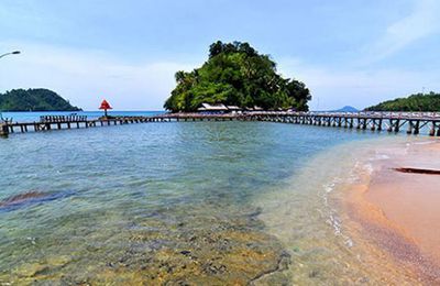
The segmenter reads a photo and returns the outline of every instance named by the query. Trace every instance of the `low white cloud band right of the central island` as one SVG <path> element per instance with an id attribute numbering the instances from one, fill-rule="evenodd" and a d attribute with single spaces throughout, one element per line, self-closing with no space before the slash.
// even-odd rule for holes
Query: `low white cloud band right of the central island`
<path id="1" fill-rule="evenodd" d="M 428 90 L 439 90 L 438 73 L 399 69 L 341 69 L 310 66 L 298 59 L 284 58 L 279 70 L 286 77 L 304 81 L 312 94 L 310 108 L 331 110 L 343 106 L 359 109 L 395 97 Z"/>

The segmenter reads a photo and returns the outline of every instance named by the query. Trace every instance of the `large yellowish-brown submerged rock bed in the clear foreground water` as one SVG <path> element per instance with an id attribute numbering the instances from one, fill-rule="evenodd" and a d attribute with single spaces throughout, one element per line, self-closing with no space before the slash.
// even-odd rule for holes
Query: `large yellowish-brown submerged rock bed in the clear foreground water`
<path id="1" fill-rule="evenodd" d="M 173 211 L 130 221 L 123 231 L 99 239 L 105 244 L 89 237 L 82 240 L 85 252 L 77 252 L 75 260 L 62 254 L 46 258 L 19 277 L 41 284 L 91 285 L 284 284 L 288 279 L 283 271 L 290 257 L 263 231 L 256 216 Z"/>

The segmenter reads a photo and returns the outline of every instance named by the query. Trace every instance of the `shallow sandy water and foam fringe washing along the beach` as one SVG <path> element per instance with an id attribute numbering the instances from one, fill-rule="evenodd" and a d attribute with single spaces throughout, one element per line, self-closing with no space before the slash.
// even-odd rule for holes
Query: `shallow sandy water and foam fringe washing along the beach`
<path id="1" fill-rule="evenodd" d="M 383 142 L 373 142 L 378 146 L 396 144 L 396 141 L 391 142 L 388 138 Z M 402 142 L 400 139 L 397 141 L 398 144 Z M 360 152 L 354 154 L 352 146 L 359 146 Z M 359 201 L 351 195 L 362 195 L 366 190 L 365 179 L 370 177 L 361 178 L 360 175 L 369 173 L 358 170 L 363 166 L 360 164 L 363 160 L 360 158 L 365 158 L 360 155 L 370 151 L 371 142 L 336 145 L 311 158 L 288 180 L 284 190 L 275 188 L 273 193 L 258 198 L 257 206 L 263 210 L 260 218 L 266 231 L 275 235 L 292 256 L 292 264 L 284 273 L 293 284 L 421 284 L 416 270 L 398 263 L 375 244 L 365 235 L 366 229 L 360 227 L 362 217 L 355 219 L 355 212 L 351 212 L 353 209 L 345 208 L 353 206 L 348 202 Z M 328 162 L 338 162 L 338 165 L 336 167 Z M 350 199 L 346 199 L 348 195 Z M 374 229 L 377 233 L 382 230 Z M 382 238 L 392 234 L 391 231 L 383 232 Z M 417 250 L 409 242 L 400 243 L 399 239 L 394 235 L 392 245 L 398 245 L 400 250 Z"/>

